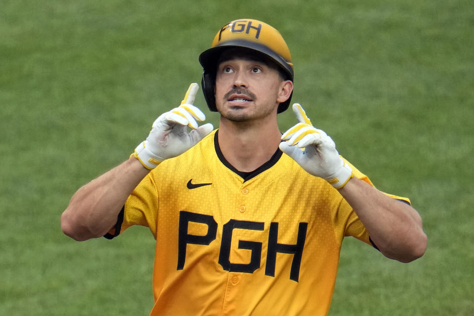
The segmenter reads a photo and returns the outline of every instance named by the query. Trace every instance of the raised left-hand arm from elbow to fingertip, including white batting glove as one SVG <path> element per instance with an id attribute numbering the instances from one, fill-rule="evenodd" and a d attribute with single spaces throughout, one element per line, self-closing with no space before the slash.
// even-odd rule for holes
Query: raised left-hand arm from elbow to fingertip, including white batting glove
<path id="1" fill-rule="evenodd" d="M 197 125 L 197 121 L 205 119 L 193 105 L 197 89 L 197 83 L 192 83 L 181 105 L 155 120 L 133 157 L 74 194 L 61 216 L 64 234 L 79 241 L 104 236 L 117 223 L 127 197 L 151 169 L 165 159 L 181 155 L 212 131 L 210 123 Z"/>

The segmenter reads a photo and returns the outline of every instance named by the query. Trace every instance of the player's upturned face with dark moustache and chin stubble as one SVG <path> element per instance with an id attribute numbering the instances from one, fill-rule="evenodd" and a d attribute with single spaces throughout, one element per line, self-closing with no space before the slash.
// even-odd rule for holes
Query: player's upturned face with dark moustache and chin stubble
<path id="1" fill-rule="evenodd" d="M 263 61 L 241 55 L 232 56 L 217 67 L 217 110 L 222 117 L 231 121 L 276 115 L 278 104 L 289 96 L 283 91 L 283 87 L 288 85 L 285 82 L 288 81 L 281 78 L 275 67 Z"/>

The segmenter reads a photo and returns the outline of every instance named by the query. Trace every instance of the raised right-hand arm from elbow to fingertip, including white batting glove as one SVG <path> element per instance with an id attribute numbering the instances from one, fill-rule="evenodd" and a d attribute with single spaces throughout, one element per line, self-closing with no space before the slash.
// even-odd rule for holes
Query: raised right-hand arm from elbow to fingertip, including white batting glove
<path id="1" fill-rule="evenodd" d="M 417 211 L 352 177 L 351 166 L 339 156 L 331 137 L 311 124 L 301 105 L 293 104 L 293 112 L 299 123 L 281 136 L 285 142 L 280 143 L 280 149 L 339 190 L 386 257 L 401 262 L 421 257 L 427 237 Z"/>

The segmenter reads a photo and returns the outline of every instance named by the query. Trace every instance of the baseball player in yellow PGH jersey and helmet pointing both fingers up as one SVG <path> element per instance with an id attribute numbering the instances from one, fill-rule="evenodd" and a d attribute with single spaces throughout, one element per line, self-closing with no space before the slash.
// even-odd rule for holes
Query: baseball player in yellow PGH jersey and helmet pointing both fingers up
<path id="1" fill-rule="evenodd" d="M 278 129 L 293 64 L 276 29 L 232 21 L 199 62 L 219 128 L 199 126 L 191 84 L 130 158 L 80 188 L 61 217 L 77 240 L 150 228 L 151 315 L 326 315 L 343 237 L 401 262 L 423 255 L 427 237 L 409 199 L 375 189 L 301 105 L 292 106 L 298 123 Z"/>

